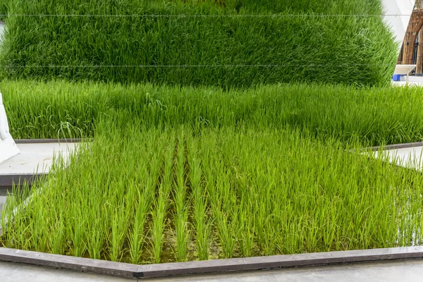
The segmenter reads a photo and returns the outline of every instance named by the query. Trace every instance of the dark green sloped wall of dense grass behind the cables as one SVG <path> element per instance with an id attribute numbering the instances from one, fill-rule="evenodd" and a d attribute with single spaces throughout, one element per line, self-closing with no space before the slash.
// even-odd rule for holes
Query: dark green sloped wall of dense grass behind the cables
<path id="1" fill-rule="evenodd" d="M 225 2 L 11 0 L 10 14 L 36 16 L 8 17 L 0 75 L 226 88 L 391 79 L 397 48 L 379 0 Z M 42 16 L 56 14 L 85 16 Z M 257 14 L 269 17 L 243 17 Z M 333 16 L 363 14 L 376 16 Z"/>

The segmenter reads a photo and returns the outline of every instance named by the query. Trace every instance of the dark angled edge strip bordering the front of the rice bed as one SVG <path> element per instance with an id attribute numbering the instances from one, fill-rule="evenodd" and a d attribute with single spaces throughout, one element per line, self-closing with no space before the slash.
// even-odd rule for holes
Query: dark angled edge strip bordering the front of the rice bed
<path id="1" fill-rule="evenodd" d="M 0 248 L 0 261 L 4 262 L 50 266 L 76 271 L 91 271 L 99 274 L 133 278 L 157 278 L 186 274 L 222 273 L 227 271 L 278 269 L 296 266 L 417 258 L 423 259 L 422 246 L 137 265 Z"/>

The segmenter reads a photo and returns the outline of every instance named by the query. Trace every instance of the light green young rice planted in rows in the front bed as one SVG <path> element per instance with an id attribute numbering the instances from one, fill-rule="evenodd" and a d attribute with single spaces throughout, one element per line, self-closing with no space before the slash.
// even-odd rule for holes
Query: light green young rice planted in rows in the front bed
<path id="1" fill-rule="evenodd" d="M 348 150 L 366 143 L 128 115 L 104 118 L 30 205 L 9 198 L 4 246 L 144 264 L 422 241 L 421 174 Z"/>

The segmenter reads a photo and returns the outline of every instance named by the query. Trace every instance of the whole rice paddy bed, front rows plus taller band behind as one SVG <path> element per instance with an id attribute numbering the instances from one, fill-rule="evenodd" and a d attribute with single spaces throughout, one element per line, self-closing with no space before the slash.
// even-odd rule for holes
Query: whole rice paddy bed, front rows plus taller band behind
<path id="1" fill-rule="evenodd" d="M 359 151 L 421 140 L 417 89 L 0 87 L 14 137 L 94 137 L 8 198 L 5 247 L 149 264 L 422 243 L 421 174 Z"/>

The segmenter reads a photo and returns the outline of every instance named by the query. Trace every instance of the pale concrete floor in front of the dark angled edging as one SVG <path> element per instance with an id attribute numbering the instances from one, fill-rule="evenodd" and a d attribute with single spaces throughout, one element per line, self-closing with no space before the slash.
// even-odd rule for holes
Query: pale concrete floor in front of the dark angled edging
<path id="1" fill-rule="evenodd" d="M 313 266 L 296 269 L 235 272 L 200 276 L 178 276 L 146 279 L 152 282 L 355 282 L 355 281 L 422 281 L 423 259 L 406 261 L 372 262 L 367 264 L 343 264 L 337 266 Z M 132 279 L 103 276 L 61 269 L 49 269 L 11 262 L 0 262 L 1 282 L 78 282 L 78 281 L 135 281 Z"/>

